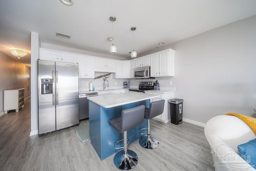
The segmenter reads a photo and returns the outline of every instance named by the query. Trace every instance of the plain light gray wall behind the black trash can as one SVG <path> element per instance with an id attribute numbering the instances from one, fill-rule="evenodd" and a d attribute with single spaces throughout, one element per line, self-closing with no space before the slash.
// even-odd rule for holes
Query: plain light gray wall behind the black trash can
<path id="1" fill-rule="evenodd" d="M 228 112 L 256 117 L 256 16 L 147 54 L 167 48 L 176 50 L 175 76 L 159 80 L 184 99 L 184 118 L 206 123 Z"/>

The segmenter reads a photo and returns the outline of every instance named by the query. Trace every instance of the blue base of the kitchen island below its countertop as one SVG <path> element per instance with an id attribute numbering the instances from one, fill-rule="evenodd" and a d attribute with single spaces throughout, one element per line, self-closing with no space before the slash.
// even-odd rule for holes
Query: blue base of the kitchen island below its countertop
<path id="1" fill-rule="evenodd" d="M 149 103 L 150 103 L 150 100 L 148 99 L 144 101 L 138 101 L 138 102 L 129 103 L 126 105 L 120 105 L 116 107 L 110 107 L 110 108 L 104 108 L 98 105 L 98 107 L 100 107 L 100 117 L 89 116 L 89 122 L 90 122 L 90 137 L 92 138 L 91 143 L 94 149 L 96 150 L 96 152 L 98 153 L 101 160 L 106 159 L 110 155 L 119 151 L 120 149 L 114 149 L 114 144 L 118 140 L 123 139 L 123 133 L 119 133 L 112 126 L 110 126 L 108 123 L 108 120 L 115 117 L 120 117 L 122 110 L 124 109 L 129 109 L 139 105 L 145 105 L 146 107 L 149 107 Z M 89 104 L 90 104 L 90 108 L 89 108 L 90 113 L 93 113 L 92 115 L 99 115 L 98 113 L 99 109 L 98 107 L 95 107 L 95 105 L 97 104 L 91 101 Z M 93 111 L 94 109 L 95 111 Z M 100 119 L 100 126 L 98 121 L 96 121 L 95 119 Z M 127 131 L 127 137 L 130 140 L 130 143 L 136 141 L 137 139 L 143 136 L 139 133 L 139 130 L 144 127 L 147 127 L 146 119 L 144 119 L 142 124 L 132 129 L 129 129 Z M 98 128 L 100 128 L 100 131 Z M 94 130 L 91 131 L 91 129 L 94 129 Z M 91 135 L 94 133 L 98 135 Z M 100 137 L 100 140 L 99 140 L 99 137 Z M 120 146 L 123 146 L 122 142 L 120 142 Z"/>

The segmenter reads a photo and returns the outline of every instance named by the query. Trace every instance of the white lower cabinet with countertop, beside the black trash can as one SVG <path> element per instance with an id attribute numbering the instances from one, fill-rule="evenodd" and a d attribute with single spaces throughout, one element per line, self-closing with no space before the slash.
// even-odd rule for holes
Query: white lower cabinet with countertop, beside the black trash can
<path id="1" fill-rule="evenodd" d="M 155 94 L 155 95 L 160 96 L 160 97 L 151 99 L 150 102 L 159 101 L 159 100 L 162 100 L 162 99 L 165 100 L 165 102 L 164 102 L 164 112 L 161 115 L 158 115 L 158 116 L 154 117 L 153 119 L 156 119 L 156 120 L 164 122 L 164 123 L 167 123 L 168 121 L 170 121 L 171 120 L 170 105 L 169 105 L 168 100 L 174 98 L 174 93 L 173 92 L 171 92 L 171 93 L 151 93 L 151 92 L 146 92 L 146 91 L 145 91 L 145 93 Z"/>

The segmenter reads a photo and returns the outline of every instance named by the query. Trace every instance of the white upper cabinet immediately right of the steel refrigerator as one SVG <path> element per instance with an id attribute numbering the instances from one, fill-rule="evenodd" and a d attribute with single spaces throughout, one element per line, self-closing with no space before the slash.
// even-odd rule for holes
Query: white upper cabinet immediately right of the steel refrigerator
<path id="1" fill-rule="evenodd" d="M 94 78 L 94 58 L 77 56 L 77 62 L 79 78 Z"/>

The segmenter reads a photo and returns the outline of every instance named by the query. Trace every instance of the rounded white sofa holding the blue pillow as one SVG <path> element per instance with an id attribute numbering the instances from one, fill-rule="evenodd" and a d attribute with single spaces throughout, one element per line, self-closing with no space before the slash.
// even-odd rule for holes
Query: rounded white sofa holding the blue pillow
<path id="1" fill-rule="evenodd" d="M 232 115 L 211 118 L 204 127 L 216 171 L 255 171 L 238 152 L 237 146 L 255 139 L 252 129 Z"/>

